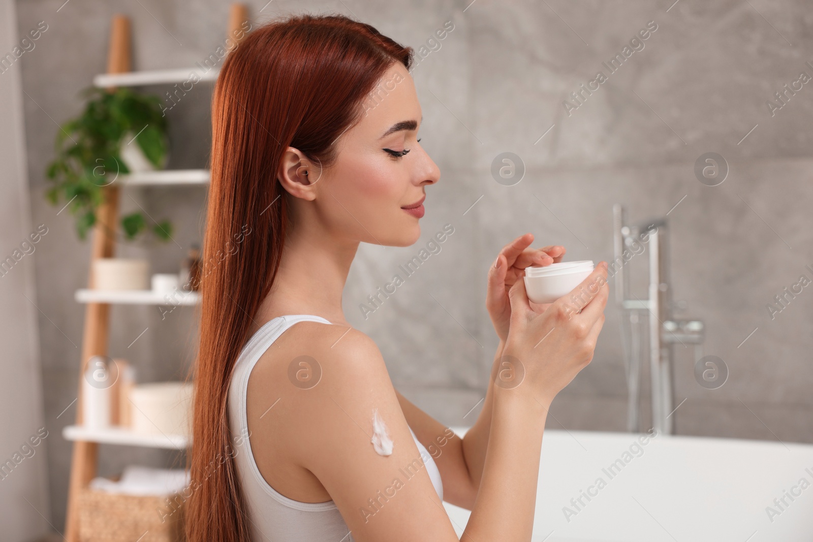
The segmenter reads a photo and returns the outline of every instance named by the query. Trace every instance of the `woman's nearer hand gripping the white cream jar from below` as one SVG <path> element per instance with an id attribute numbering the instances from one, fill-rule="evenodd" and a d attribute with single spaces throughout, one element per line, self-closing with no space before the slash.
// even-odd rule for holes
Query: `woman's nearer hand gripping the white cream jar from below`
<path id="1" fill-rule="evenodd" d="M 571 293 L 541 313 L 529 305 L 525 281 L 515 282 L 508 293 L 511 323 L 495 375 L 496 386 L 527 390 L 547 408 L 587 366 L 604 325 L 610 291 L 606 265 L 599 262 Z"/>

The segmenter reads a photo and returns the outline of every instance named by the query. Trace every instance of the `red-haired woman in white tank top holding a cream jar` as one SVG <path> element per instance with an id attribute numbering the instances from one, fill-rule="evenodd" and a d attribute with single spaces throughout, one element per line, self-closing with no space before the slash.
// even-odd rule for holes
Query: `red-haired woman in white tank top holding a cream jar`
<path id="1" fill-rule="evenodd" d="M 472 510 L 463 540 L 530 540 L 547 410 L 593 357 L 606 262 L 578 306 L 532 307 L 523 268 L 563 247 L 528 248 L 526 234 L 502 249 L 488 279 L 493 378 L 463 439 L 393 389 L 341 292 L 360 242 L 419 239 L 440 177 L 417 139 L 411 54 L 367 24 L 298 15 L 257 28 L 224 62 L 190 542 L 457 540 L 442 500 Z"/>

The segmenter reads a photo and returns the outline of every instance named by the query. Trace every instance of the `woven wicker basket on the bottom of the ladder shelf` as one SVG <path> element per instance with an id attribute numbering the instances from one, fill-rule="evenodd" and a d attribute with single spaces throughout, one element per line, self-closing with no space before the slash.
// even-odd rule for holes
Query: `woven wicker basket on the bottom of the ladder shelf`
<path id="1" fill-rule="evenodd" d="M 119 495 L 82 488 L 79 494 L 81 542 L 181 542 L 183 499 L 166 496 Z M 180 502 L 180 505 L 177 504 Z"/>

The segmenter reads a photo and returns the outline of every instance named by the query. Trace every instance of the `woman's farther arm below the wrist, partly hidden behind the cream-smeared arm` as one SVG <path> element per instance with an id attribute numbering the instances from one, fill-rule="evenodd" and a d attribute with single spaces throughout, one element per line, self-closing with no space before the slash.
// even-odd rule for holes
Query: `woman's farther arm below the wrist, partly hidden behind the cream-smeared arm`
<path id="1" fill-rule="evenodd" d="M 444 501 L 468 510 L 474 506 L 483 475 L 485 450 L 489 444 L 491 430 L 493 374 L 504 346 L 505 343 L 500 340 L 497 353 L 494 354 L 492 378 L 489 379 L 488 389 L 485 392 L 483 408 L 463 439 L 459 436 L 450 437 L 450 431 L 446 427 L 398 393 L 398 401 L 401 403 L 406 423 L 409 423 L 412 431 L 415 431 L 420 444 L 424 444 L 435 460 L 437 470 L 441 472 Z"/>

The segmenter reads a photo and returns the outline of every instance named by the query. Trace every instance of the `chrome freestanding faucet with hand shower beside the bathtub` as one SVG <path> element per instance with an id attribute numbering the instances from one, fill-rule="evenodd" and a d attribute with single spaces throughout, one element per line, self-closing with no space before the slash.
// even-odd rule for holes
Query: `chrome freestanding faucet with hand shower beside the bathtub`
<path id="1" fill-rule="evenodd" d="M 702 320 L 676 320 L 672 310 L 685 308 L 684 301 L 672 301 L 668 277 L 666 217 L 628 226 L 624 207 L 613 206 L 613 255 L 608 277 L 615 277 L 615 301 L 621 318 L 621 342 L 627 371 L 628 431 L 641 431 L 641 352 L 648 345 L 650 358 L 650 395 L 652 427 L 664 434 L 674 433 L 674 383 L 672 366 L 674 346 L 694 345 L 694 361 L 702 358 L 705 326 Z M 649 249 L 649 291 L 641 299 L 629 293 L 629 264 Z M 647 322 L 647 332 L 643 323 Z"/>

